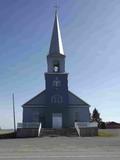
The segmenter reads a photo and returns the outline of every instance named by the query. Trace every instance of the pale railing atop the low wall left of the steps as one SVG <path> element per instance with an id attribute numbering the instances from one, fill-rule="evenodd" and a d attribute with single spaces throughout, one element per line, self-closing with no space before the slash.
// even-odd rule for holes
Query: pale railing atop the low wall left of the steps
<path id="1" fill-rule="evenodd" d="M 26 123 L 18 123 L 17 128 L 39 128 L 40 123 L 38 122 L 26 122 Z"/>

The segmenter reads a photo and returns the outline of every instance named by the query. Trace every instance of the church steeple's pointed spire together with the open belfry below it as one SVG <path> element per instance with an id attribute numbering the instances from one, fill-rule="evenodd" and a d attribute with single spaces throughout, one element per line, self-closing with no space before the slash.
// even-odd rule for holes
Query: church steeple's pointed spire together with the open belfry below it
<path id="1" fill-rule="evenodd" d="M 62 45 L 57 10 L 55 12 L 55 20 L 50 42 L 49 54 L 47 55 L 47 65 L 48 73 L 58 74 L 65 72 L 65 55 Z"/>

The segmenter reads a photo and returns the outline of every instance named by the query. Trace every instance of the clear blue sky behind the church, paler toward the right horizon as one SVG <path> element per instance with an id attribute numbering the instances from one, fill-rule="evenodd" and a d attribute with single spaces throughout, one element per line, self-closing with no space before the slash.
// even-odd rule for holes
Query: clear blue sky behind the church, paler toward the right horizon
<path id="1" fill-rule="evenodd" d="M 69 89 L 120 122 L 120 1 L 59 0 Z M 45 88 L 55 1 L 0 0 L 0 126 L 12 128 L 21 105 Z"/>

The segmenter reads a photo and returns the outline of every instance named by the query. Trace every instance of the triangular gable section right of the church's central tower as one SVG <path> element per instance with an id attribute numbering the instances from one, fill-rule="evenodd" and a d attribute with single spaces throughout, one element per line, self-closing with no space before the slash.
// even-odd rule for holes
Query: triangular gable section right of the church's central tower
<path id="1" fill-rule="evenodd" d="M 77 97 L 74 93 L 68 91 L 69 105 L 86 105 L 90 106 L 88 103 L 83 101 L 81 98 Z"/>

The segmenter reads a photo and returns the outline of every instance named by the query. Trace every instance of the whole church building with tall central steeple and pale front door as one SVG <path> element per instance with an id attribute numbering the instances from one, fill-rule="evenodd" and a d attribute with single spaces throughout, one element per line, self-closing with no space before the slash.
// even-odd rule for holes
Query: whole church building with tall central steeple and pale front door
<path id="1" fill-rule="evenodd" d="M 65 58 L 56 12 L 44 74 L 45 90 L 22 105 L 23 123 L 39 122 L 42 128 L 70 128 L 76 121 L 90 121 L 90 105 L 68 89 Z"/>

